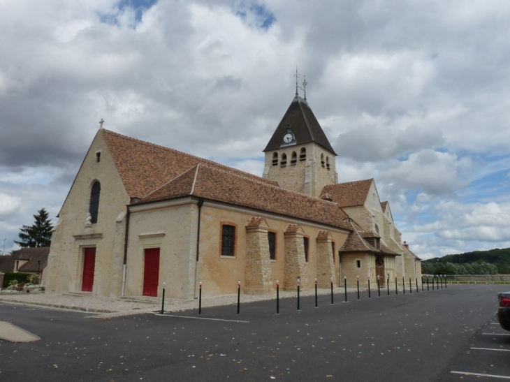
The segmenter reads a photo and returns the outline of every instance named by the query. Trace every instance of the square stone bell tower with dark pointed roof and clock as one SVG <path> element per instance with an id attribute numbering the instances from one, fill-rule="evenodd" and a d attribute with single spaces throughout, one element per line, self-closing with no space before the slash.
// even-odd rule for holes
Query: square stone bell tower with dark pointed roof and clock
<path id="1" fill-rule="evenodd" d="M 303 85 L 306 84 L 306 81 Z M 335 151 L 305 98 L 296 96 L 272 134 L 265 153 L 263 177 L 284 189 L 319 198 L 327 184 L 336 184 Z"/>

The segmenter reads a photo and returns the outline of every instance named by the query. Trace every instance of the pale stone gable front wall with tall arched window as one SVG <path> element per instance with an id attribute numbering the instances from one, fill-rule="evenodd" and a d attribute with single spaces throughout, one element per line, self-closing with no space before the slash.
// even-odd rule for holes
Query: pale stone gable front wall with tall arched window
<path id="1" fill-rule="evenodd" d="M 96 153 L 101 153 L 100 161 Z M 98 221 L 85 226 L 89 212 L 90 191 L 94 181 L 101 183 Z M 101 131 L 85 156 L 73 187 L 59 213 L 45 269 L 46 293 L 81 291 L 85 247 L 96 247 L 94 295 L 116 295 L 119 286 L 111 285 L 112 265 L 122 254 L 118 242 L 124 242 L 123 230 L 117 232 L 117 217 L 129 203 L 122 181 L 113 163 Z M 123 247 L 123 246 L 122 246 Z"/>

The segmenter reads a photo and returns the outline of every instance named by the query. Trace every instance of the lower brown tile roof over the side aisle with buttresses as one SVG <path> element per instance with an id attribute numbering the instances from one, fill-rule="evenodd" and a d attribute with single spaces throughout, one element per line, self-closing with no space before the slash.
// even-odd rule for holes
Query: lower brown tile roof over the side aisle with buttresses
<path id="1" fill-rule="evenodd" d="M 140 203 L 188 195 L 349 229 L 347 214 L 335 203 L 282 189 L 263 178 L 247 177 L 239 171 L 205 163 L 189 168 Z"/>

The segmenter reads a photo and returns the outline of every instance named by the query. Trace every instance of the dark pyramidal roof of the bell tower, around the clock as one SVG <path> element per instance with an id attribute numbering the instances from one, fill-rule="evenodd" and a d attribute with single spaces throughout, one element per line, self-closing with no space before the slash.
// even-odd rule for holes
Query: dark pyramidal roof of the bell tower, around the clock
<path id="1" fill-rule="evenodd" d="M 326 134 L 321 128 L 319 121 L 317 121 L 314 112 L 309 107 L 307 101 L 300 96 L 294 97 L 285 112 L 282 121 L 279 123 L 272 134 L 268 145 L 263 149 L 264 152 L 279 149 L 282 145 L 282 138 L 287 131 L 287 125 L 291 126 L 291 131 L 296 136 L 296 145 L 303 145 L 304 143 L 316 142 L 329 152 L 336 155 L 335 150 L 326 138 Z"/>

